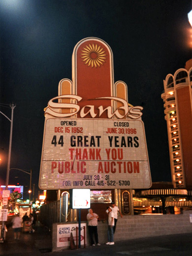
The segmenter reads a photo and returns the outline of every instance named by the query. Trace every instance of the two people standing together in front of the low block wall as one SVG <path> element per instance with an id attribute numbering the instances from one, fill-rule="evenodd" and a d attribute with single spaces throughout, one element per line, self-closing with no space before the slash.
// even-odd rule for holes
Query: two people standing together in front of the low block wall
<path id="1" fill-rule="evenodd" d="M 98 242 L 98 233 L 97 233 L 97 224 L 99 216 L 93 212 L 93 210 L 90 208 L 88 210 L 87 214 L 87 221 L 88 221 L 88 231 L 89 231 L 89 237 L 91 246 L 100 245 Z M 114 245 L 114 233 L 116 229 L 117 219 L 118 219 L 118 213 L 120 214 L 121 218 L 123 215 L 121 214 L 118 206 L 115 205 L 114 202 L 111 203 L 111 206 L 107 207 L 106 213 L 108 215 L 108 230 L 107 230 L 107 238 L 108 242 L 107 245 Z M 95 238 L 95 242 L 94 242 Z"/>

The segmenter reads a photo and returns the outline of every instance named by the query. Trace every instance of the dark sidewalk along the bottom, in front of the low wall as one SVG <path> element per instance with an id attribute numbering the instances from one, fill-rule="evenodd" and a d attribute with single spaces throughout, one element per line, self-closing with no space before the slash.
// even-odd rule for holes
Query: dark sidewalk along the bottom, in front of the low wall
<path id="1" fill-rule="evenodd" d="M 111 246 L 102 241 L 100 244 L 52 252 L 51 232 L 37 222 L 35 232 L 21 233 L 20 240 L 14 240 L 13 229 L 8 227 L 5 242 L 0 243 L 0 256 L 192 256 L 192 233 L 132 239 Z"/>

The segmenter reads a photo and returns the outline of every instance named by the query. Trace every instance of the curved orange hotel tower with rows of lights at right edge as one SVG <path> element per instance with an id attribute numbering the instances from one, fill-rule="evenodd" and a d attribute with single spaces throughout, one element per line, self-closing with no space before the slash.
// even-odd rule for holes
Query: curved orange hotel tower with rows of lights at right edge
<path id="1" fill-rule="evenodd" d="M 163 83 L 172 183 L 192 189 L 192 59 Z"/>

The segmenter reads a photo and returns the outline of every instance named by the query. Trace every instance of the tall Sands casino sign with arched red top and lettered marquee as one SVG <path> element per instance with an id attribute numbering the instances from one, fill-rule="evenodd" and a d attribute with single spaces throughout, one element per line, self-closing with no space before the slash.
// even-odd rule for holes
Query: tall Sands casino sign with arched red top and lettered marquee
<path id="1" fill-rule="evenodd" d="M 126 83 L 114 83 L 111 48 L 81 40 L 72 81 L 45 108 L 39 188 L 144 189 L 151 174 L 142 107 L 128 103 Z"/>

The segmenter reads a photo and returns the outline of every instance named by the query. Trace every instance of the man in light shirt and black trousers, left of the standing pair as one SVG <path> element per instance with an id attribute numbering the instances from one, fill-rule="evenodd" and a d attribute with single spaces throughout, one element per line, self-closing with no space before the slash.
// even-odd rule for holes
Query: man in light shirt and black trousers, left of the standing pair
<path id="1" fill-rule="evenodd" d="M 98 233 L 97 233 L 97 221 L 98 221 L 98 215 L 93 212 L 93 210 L 90 208 L 88 210 L 87 214 L 87 220 L 88 220 L 88 231 L 89 231 L 89 237 L 91 240 L 91 246 L 95 246 L 93 236 L 95 236 L 96 245 L 100 245 L 98 243 Z"/>

